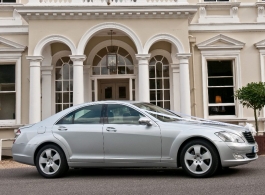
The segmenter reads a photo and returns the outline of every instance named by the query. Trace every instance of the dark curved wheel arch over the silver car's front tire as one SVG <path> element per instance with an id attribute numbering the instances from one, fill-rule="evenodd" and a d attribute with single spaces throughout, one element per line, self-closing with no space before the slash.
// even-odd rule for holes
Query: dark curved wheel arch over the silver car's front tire
<path id="1" fill-rule="evenodd" d="M 196 136 L 196 137 L 189 137 L 188 139 L 186 139 L 185 141 L 183 141 L 177 151 L 177 159 L 176 159 L 176 163 L 177 163 L 177 167 L 181 167 L 181 163 L 180 163 L 180 154 L 181 154 L 181 151 L 183 149 L 183 147 L 190 141 L 193 141 L 193 140 L 204 140 L 206 142 L 208 142 L 209 144 L 211 144 L 215 150 L 217 151 L 217 154 L 218 154 L 218 160 L 219 160 L 219 164 L 221 164 L 221 158 L 220 158 L 220 152 L 217 148 L 217 146 L 214 144 L 214 142 L 212 142 L 210 139 L 207 139 L 206 137 L 203 137 L 203 136 Z"/>

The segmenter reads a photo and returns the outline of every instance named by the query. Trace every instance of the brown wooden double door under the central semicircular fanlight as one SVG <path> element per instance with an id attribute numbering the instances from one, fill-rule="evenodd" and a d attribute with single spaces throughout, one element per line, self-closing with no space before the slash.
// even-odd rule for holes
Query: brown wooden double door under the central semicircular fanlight
<path id="1" fill-rule="evenodd" d="M 129 100 L 129 79 L 98 80 L 99 100 Z"/>

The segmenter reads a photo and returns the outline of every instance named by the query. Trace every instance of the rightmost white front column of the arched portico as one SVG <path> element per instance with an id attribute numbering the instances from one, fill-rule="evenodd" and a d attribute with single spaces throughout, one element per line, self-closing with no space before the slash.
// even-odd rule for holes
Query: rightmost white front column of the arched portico
<path id="1" fill-rule="evenodd" d="M 178 53 L 180 71 L 180 112 L 191 115 L 189 53 Z"/>

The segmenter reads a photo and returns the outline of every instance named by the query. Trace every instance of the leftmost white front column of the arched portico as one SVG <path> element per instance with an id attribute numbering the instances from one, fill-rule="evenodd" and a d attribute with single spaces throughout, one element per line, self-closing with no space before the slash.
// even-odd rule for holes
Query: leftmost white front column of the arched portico
<path id="1" fill-rule="evenodd" d="M 30 63 L 30 85 L 29 85 L 29 124 L 41 120 L 40 105 L 40 65 L 42 56 L 27 56 Z"/>

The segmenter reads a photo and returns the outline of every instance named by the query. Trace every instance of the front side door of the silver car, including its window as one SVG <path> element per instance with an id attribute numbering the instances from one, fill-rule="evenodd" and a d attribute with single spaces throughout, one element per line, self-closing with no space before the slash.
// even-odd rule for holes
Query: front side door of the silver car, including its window
<path id="1" fill-rule="evenodd" d="M 159 162 L 161 133 L 157 125 L 140 125 L 144 116 L 122 104 L 108 104 L 103 125 L 105 162 Z"/>

